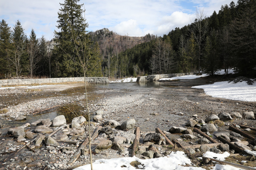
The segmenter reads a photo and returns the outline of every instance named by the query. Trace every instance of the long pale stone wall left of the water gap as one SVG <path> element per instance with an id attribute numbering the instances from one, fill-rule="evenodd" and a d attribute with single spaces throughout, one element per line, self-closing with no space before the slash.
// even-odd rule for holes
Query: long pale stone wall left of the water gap
<path id="1" fill-rule="evenodd" d="M 89 83 L 109 83 L 107 77 L 86 77 Z M 67 78 L 46 78 L 46 79 L 8 79 L 0 80 L 1 86 L 28 85 L 39 83 L 62 83 L 62 82 L 83 82 L 83 77 L 67 77 Z"/>

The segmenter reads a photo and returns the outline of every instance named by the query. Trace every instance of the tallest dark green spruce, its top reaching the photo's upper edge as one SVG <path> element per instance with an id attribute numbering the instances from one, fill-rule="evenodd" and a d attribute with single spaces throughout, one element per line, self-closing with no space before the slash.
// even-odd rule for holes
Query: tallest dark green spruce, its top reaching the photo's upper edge
<path id="1" fill-rule="evenodd" d="M 60 3 L 61 8 L 58 12 L 59 31 L 55 31 L 54 57 L 56 64 L 55 76 L 75 77 L 78 75 L 79 68 L 77 51 L 87 52 L 88 35 L 85 28 L 88 24 L 83 18 L 83 4 L 78 4 L 79 0 L 65 0 Z"/>

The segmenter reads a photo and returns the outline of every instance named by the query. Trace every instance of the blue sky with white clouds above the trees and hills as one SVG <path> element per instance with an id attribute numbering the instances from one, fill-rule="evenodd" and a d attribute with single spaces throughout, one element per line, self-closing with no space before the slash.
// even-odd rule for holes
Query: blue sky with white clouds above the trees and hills
<path id="1" fill-rule="evenodd" d="M 80 0 L 84 3 L 88 31 L 109 28 L 119 35 L 163 36 L 175 27 L 183 27 L 195 19 L 195 10 L 210 16 L 231 0 Z M 47 40 L 57 30 L 59 3 L 64 0 L 0 0 L 0 19 L 13 29 L 19 20 L 29 36 L 33 28 L 37 37 Z"/>

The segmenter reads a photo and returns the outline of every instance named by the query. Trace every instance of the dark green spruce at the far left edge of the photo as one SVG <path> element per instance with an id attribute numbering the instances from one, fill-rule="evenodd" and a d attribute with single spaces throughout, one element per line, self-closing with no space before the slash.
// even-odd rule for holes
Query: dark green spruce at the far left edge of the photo
<path id="1" fill-rule="evenodd" d="M 6 77 L 9 72 L 7 50 L 11 49 L 11 27 L 4 19 L 0 22 L 0 77 Z"/>

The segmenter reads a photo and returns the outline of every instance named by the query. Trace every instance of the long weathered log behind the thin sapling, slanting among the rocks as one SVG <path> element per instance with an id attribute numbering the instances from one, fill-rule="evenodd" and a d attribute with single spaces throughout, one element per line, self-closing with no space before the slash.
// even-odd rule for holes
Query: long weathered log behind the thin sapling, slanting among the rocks
<path id="1" fill-rule="evenodd" d="M 98 134 L 99 131 L 101 131 L 102 126 L 98 126 L 97 129 L 94 131 L 93 135 L 91 136 L 91 140 L 94 140 Z M 77 151 L 75 151 L 74 155 L 70 158 L 69 162 L 67 162 L 67 165 L 72 165 L 81 155 L 81 149 L 85 148 L 85 146 L 88 144 L 89 142 L 89 138 L 86 138 L 81 144 L 80 146 L 77 148 Z"/>

